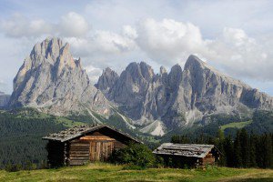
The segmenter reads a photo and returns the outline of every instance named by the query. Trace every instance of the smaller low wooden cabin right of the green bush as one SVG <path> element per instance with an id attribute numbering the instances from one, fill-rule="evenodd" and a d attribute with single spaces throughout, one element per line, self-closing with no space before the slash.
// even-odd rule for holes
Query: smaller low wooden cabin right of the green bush
<path id="1" fill-rule="evenodd" d="M 214 145 L 164 143 L 153 151 L 169 167 L 206 167 L 214 165 L 220 152 Z"/>

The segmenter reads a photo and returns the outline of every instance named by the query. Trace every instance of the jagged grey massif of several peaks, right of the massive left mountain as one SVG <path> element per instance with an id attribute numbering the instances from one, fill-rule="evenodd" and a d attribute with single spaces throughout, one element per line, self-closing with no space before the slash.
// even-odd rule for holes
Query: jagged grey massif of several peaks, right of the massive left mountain
<path id="1" fill-rule="evenodd" d="M 106 97 L 134 125 L 153 135 L 196 122 L 206 125 L 212 115 L 245 116 L 254 109 L 273 106 L 271 96 L 220 73 L 197 56 L 189 56 L 183 70 L 176 65 L 167 73 L 160 67 L 155 74 L 144 62 L 131 63 L 119 77 L 103 74 L 102 79 L 115 80 L 115 84 L 106 84 L 106 89 L 98 87 Z"/>

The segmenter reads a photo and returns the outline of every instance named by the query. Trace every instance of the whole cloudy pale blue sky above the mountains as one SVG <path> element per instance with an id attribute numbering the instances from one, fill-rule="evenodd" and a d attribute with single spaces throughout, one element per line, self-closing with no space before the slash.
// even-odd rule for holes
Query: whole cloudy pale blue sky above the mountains
<path id="1" fill-rule="evenodd" d="M 107 66 L 184 66 L 197 55 L 273 96 L 273 1 L 0 0 L 0 91 L 36 43 L 60 37 L 93 83 Z"/>

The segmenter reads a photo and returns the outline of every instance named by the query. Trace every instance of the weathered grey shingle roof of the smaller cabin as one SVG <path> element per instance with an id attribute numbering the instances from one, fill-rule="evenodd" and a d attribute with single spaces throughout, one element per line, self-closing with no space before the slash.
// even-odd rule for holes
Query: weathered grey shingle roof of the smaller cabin
<path id="1" fill-rule="evenodd" d="M 160 147 L 157 147 L 153 153 L 158 155 L 203 158 L 214 147 L 214 145 L 164 143 Z"/>

